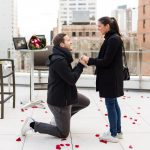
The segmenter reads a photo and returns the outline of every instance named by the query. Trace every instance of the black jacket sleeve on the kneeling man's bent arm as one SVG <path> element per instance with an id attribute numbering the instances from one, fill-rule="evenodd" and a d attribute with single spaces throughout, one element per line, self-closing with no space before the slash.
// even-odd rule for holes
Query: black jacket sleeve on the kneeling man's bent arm
<path id="1" fill-rule="evenodd" d="M 76 68 L 72 70 L 65 59 L 59 59 L 54 63 L 54 70 L 65 82 L 70 85 L 75 85 L 83 71 L 83 65 L 78 64 Z"/>

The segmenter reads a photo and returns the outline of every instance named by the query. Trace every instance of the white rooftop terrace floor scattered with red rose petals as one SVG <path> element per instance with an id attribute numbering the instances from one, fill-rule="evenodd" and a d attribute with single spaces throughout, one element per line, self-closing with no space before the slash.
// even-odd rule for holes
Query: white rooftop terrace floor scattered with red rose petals
<path id="1" fill-rule="evenodd" d="M 6 103 L 4 119 L 0 119 L 0 149 L 56 150 L 57 145 L 60 144 L 61 150 L 150 149 L 150 94 L 148 91 L 125 91 L 125 96 L 119 98 L 124 139 L 116 144 L 102 143 L 98 139 L 104 131 L 108 130 L 109 125 L 104 99 L 99 98 L 94 88 L 78 90 L 90 98 L 91 104 L 73 116 L 70 135 L 66 140 L 62 140 L 34 132 L 21 137 L 20 129 L 27 116 L 43 122 L 50 122 L 53 116 L 47 107 L 46 109 L 28 108 L 22 112 L 21 107 L 29 99 L 29 87 L 17 86 L 16 108 L 11 108 L 11 102 Z M 46 91 L 36 91 L 34 99 L 46 101 L 46 95 Z"/>

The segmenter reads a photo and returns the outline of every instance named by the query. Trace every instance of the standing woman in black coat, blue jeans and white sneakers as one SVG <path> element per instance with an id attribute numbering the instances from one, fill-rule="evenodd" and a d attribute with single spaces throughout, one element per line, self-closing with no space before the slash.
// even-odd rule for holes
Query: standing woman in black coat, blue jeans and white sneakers
<path id="1" fill-rule="evenodd" d="M 122 40 L 115 18 L 102 17 L 98 20 L 98 30 L 104 35 L 104 42 L 97 58 L 82 56 L 89 66 L 96 66 L 96 91 L 105 98 L 110 131 L 101 139 L 117 143 L 123 138 L 121 132 L 121 112 L 117 97 L 123 96 Z"/>

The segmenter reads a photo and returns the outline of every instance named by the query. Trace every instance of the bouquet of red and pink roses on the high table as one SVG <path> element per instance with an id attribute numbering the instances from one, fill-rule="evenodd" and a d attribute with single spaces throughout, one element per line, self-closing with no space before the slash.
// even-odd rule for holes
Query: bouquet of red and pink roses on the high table
<path id="1" fill-rule="evenodd" d="M 29 40 L 28 46 L 31 50 L 42 49 L 46 46 L 46 39 L 33 35 Z"/>

